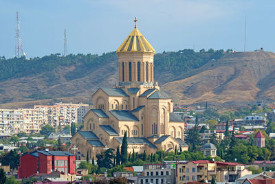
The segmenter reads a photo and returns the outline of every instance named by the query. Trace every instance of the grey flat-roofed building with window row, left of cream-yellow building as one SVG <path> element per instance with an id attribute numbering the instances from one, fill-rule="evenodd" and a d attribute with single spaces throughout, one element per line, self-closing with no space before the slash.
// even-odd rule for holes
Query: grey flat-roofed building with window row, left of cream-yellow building
<path id="1" fill-rule="evenodd" d="M 144 174 L 138 176 L 138 183 L 175 184 L 176 171 L 170 164 L 146 164 L 143 166 Z"/>

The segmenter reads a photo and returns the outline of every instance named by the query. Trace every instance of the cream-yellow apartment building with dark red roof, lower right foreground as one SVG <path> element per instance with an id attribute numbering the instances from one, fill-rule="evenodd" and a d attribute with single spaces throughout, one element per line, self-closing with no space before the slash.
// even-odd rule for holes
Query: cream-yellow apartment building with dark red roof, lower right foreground
<path id="1" fill-rule="evenodd" d="M 241 176 L 252 174 L 241 163 L 219 161 L 188 161 L 177 164 L 177 183 L 189 181 L 211 181 L 212 177 L 217 182 L 234 182 Z"/>

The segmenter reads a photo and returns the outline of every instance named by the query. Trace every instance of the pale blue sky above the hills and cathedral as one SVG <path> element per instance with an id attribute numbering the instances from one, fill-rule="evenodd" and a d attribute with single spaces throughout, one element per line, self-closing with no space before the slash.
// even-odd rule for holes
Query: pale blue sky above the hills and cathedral
<path id="1" fill-rule="evenodd" d="M 275 51 L 275 1 L 0 0 L 0 56 L 12 58 L 19 12 L 27 57 L 115 51 L 137 28 L 156 52 L 182 49 Z"/>

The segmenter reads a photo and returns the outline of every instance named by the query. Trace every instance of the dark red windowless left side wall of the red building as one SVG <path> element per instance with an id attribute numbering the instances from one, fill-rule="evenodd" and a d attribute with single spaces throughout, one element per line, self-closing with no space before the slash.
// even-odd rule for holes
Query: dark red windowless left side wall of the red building
<path id="1" fill-rule="evenodd" d="M 18 167 L 18 178 L 23 179 L 32 174 L 35 174 L 38 170 L 37 162 L 39 158 L 30 154 L 25 154 L 20 157 L 20 166 Z"/>

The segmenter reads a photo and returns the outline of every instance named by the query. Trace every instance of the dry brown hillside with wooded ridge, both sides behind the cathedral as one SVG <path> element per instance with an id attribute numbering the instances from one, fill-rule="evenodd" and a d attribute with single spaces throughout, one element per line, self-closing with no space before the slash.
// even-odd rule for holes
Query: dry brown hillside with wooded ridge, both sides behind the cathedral
<path id="1" fill-rule="evenodd" d="M 177 104 L 275 100 L 275 54 L 271 52 L 184 49 L 156 54 L 154 62 L 155 81 Z M 98 87 L 115 84 L 117 68 L 115 52 L 0 58 L 0 108 L 59 101 L 91 103 Z"/>

